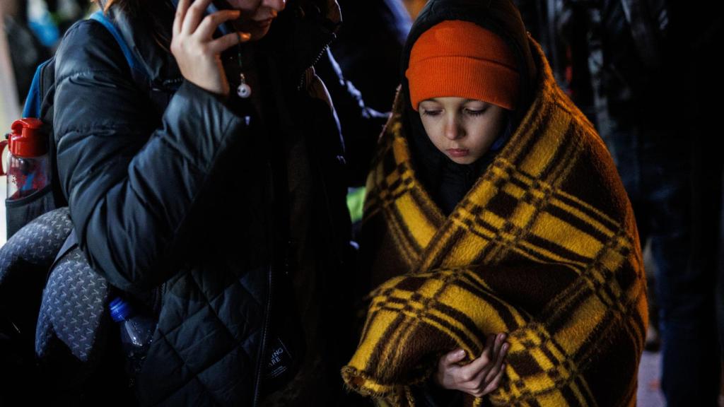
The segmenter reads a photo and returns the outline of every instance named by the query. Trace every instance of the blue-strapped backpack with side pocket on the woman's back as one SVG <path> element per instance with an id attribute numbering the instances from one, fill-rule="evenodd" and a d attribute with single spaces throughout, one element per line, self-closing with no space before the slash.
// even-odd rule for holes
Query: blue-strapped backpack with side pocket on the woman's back
<path id="1" fill-rule="evenodd" d="M 113 22 L 101 11 L 91 14 L 90 19 L 104 25 L 116 39 L 131 68 L 136 83 L 148 83 L 146 72 L 141 68 L 141 64 L 135 58 Z M 40 64 L 35 70 L 33 82 L 30 84 L 30 91 L 28 91 L 28 96 L 25 98 L 25 106 L 22 110 L 22 117 L 34 117 L 43 122 L 42 133 L 48 136 L 50 184 L 30 196 L 12 201 L 5 200 L 8 239 L 31 220 L 48 211 L 68 205 L 60 186 L 56 162 L 56 146 L 53 137 L 54 96 L 55 56 Z M 74 234 L 71 233 L 71 235 Z"/>

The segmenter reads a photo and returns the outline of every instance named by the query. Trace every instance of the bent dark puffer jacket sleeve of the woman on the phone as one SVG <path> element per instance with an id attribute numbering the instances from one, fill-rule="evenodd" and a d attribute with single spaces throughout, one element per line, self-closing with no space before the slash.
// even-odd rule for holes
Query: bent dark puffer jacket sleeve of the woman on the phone
<path id="1" fill-rule="evenodd" d="M 59 178 L 80 248 L 122 290 L 171 276 L 195 201 L 245 120 L 185 82 L 159 120 L 111 34 L 87 21 L 56 54 Z"/>

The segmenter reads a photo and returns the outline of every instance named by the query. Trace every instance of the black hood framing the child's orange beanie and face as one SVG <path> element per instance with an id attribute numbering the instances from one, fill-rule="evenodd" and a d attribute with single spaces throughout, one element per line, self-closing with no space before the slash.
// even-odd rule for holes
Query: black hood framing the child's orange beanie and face
<path id="1" fill-rule="evenodd" d="M 415 112 L 410 104 L 410 85 L 405 72 L 412 47 L 426 30 L 445 20 L 473 22 L 492 31 L 508 44 L 518 61 L 521 78 L 518 106 L 508 114 L 508 125 L 490 151 L 473 164 L 456 164 L 438 151 L 427 137 L 418 112 Z M 502 144 L 510 138 L 534 99 L 537 69 L 521 14 L 510 0 L 430 0 L 418 15 L 408 35 L 400 68 L 400 96 L 404 106 L 402 119 L 413 162 L 418 177 L 440 209 L 447 214 L 476 182 L 497 151 L 500 151 Z"/>

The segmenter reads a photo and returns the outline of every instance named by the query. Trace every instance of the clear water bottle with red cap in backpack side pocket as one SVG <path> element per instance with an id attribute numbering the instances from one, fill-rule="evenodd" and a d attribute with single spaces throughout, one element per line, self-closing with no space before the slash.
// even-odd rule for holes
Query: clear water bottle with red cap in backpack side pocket
<path id="1" fill-rule="evenodd" d="M 33 117 L 15 120 L 7 140 L 0 141 L 0 154 L 5 146 L 10 151 L 7 171 L 0 162 L 0 175 L 7 175 L 9 200 L 25 198 L 48 185 L 48 137 L 42 127 L 43 122 Z"/>

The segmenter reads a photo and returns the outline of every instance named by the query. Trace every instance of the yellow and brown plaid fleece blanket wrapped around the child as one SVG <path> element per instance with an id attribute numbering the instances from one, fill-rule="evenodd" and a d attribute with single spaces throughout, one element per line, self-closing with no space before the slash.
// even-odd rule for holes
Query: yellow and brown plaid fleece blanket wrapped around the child
<path id="1" fill-rule="evenodd" d="M 511 345 L 496 406 L 636 404 L 647 303 L 631 205 L 604 143 L 529 41 L 536 98 L 450 216 L 416 178 L 399 95 L 380 138 L 363 221 L 379 286 L 342 369 L 378 405 L 414 406 L 410 385 L 442 353 L 460 347 L 471 360 L 491 332 Z"/>

